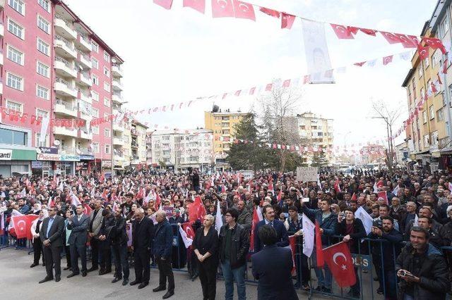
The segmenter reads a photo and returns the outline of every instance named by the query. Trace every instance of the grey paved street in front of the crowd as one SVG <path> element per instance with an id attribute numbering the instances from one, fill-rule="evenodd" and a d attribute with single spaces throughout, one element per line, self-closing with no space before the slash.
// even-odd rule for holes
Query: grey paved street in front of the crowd
<path id="1" fill-rule="evenodd" d="M 66 261 L 63 259 L 65 265 Z M 76 276 L 67 279 L 69 270 L 62 271 L 60 282 L 46 282 L 38 285 L 45 276 L 45 267 L 37 266 L 30 269 L 32 256 L 26 251 L 15 249 L 0 250 L 0 299 L 161 299 L 165 292 L 153 293 L 152 289 L 157 286 L 158 270 L 151 269 L 150 285 L 144 289 L 123 287 L 121 282 L 110 283 L 112 274 L 95 275 L 88 274 L 87 277 Z M 88 263 L 89 266 L 89 263 Z M 131 270 L 131 279 L 135 275 Z M 188 279 L 186 273 L 175 272 L 176 294 L 170 299 L 202 299 L 201 285 L 199 280 L 194 282 Z M 218 281 L 218 299 L 224 299 L 225 286 L 221 280 Z M 257 287 L 246 286 L 248 299 L 257 299 Z M 300 292 L 300 299 L 307 299 L 306 294 Z M 320 299 L 325 299 L 321 297 Z"/>

